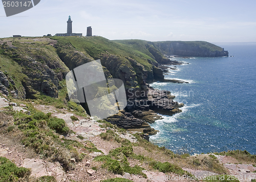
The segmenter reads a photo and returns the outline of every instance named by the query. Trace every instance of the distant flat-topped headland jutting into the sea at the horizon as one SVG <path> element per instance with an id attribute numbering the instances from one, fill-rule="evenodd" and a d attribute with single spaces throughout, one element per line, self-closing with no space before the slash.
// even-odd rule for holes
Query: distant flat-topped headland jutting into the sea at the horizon
<path id="1" fill-rule="evenodd" d="M 228 56 L 228 51 L 223 48 L 203 41 L 165 41 L 156 42 L 156 46 L 166 55 L 189 57 L 223 57 Z"/>

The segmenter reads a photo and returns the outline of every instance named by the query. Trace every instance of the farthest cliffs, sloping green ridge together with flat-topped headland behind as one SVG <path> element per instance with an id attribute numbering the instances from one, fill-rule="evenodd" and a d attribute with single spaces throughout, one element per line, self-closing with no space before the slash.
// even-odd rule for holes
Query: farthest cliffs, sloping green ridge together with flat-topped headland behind
<path id="1" fill-rule="evenodd" d="M 186 57 L 223 57 L 228 56 L 228 51 L 205 41 L 160 41 L 150 42 L 145 40 L 114 40 L 114 42 L 129 45 L 142 53 L 154 58 L 158 63 L 168 63 L 164 55 Z"/>

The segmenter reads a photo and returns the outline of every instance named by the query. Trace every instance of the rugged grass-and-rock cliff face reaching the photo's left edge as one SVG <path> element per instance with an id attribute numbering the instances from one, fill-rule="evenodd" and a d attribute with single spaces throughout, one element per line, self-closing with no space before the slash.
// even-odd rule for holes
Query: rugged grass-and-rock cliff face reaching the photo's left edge
<path id="1" fill-rule="evenodd" d="M 45 39 L 39 39 L 42 40 Z M 58 97 L 59 81 L 64 79 L 69 69 L 59 59 L 55 48 L 50 45 L 51 40 L 45 41 L 41 44 L 37 44 L 36 41 L 30 43 L 9 41 L 2 45 L 3 59 L 6 60 L 2 66 L 9 71 L 6 77 L 2 72 L 1 82 L 6 88 L 13 89 L 11 93 L 14 97 L 35 98 L 33 95 L 39 92 L 54 98 Z M 10 68 L 13 65 L 19 68 L 19 73 Z M 22 77 L 19 77 L 19 74 Z M 7 85 L 8 80 L 11 83 L 9 85 Z M 6 92 L 3 86 L 1 89 Z"/>

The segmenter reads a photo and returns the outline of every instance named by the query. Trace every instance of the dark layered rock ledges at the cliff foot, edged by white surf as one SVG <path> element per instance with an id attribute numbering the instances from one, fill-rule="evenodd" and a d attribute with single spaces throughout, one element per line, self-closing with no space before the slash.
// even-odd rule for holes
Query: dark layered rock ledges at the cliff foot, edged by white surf
<path id="1" fill-rule="evenodd" d="M 170 61 L 168 65 L 181 65 L 182 62 Z M 163 72 L 167 72 L 169 67 L 165 65 L 158 66 Z M 172 69 L 172 68 L 171 68 Z M 173 69 L 176 69 L 175 67 Z M 160 79 L 160 82 L 172 83 L 188 83 L 179 80 Z M 174 101 L 174 95 L 170 95 L 169 91 L 154 89 L 148 84 L 146 86 L 146 96 L 142 98 L 129 98 L 127 106 L 124 110 L 115 114 L 105 120 L 116 124 L 120 128 L 128 131 L 142 132 L 148 135 L 156 135 L 159 131 L 151 128 L 150 124 L 156 120 L 162 119 L 159 114 L 172 116 L 176 113 L 182 112 L 180 108 L 184 106 L 183 103 Z M 159 113 L 159 114 L 158 114 Z"/>

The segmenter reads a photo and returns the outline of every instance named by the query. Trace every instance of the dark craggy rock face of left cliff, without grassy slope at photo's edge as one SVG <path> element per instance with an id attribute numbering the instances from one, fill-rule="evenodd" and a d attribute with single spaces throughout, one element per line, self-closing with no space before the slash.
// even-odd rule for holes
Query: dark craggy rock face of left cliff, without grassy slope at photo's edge
<path id="1" fill-rule="evenodd" d="M 26 45 L 27 46 L 27 45 Z M 22 67 L 22 72 L 27 76 L 22 80 L 19 95 L 22 98 L 34 98 L 34 94 L 43 92 L 51 97 L 58 97 L 59 81 L 62 81 L 69 69 L 61 62 L 54 52 L 49 54 L 44 48 L 34 48 L 29 56 L 23 53 L 26 47 L 18 47 L 13 51 L 12 59 Z M 13 85 L 13 84 L 12 84 Z M 12 93 L 14 96 L 17 93 Z"/>

